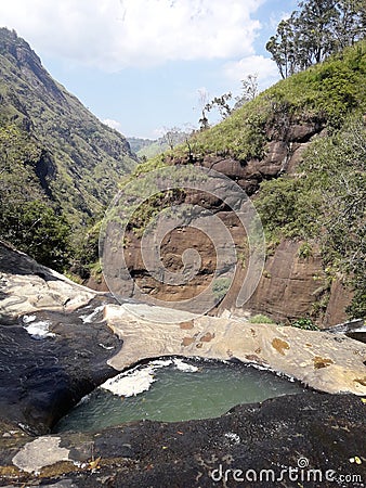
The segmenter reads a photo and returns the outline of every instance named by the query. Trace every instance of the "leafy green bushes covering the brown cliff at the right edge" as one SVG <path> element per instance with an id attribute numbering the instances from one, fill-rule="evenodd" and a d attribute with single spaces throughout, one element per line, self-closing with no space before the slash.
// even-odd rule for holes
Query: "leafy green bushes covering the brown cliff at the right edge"
<path id="1" fill-rule="evenodd" d="M 261 184 L 256 201 L 266 237 L 316 239 L 328 273 L 340 272 L 354 288 L 349 312 L 366 316 L 366 130 L 361 115 L 311 144 L 300 175 Z M 300 257 L 311 255 L 308 242 Z"/>

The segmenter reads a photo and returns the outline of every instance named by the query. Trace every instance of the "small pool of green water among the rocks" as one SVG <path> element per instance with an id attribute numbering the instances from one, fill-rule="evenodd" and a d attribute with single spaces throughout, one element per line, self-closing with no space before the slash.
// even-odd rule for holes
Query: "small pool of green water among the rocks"
<path id="1" fill-rule="evenodd" d="M 240 363 L 184 360 L 185 364 L 197 370 L 181 371 L 175 364 L 133 370 L 134 374 L 144 368 L 153 371 L 155 381 L 147 391 L 120 397 L 97 388 L 62 419 L 54 432 L 96 431 L 142 419 L 208 419 L 222 415 L 238 403 L 303 391 L 297 382 Z"/>

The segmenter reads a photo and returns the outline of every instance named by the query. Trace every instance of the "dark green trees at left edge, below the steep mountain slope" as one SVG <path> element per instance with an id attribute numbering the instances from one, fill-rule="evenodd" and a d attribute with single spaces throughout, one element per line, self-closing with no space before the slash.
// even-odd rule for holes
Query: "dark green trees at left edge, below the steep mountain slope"
<path id="1" fill-rule="evenodd" d="M 39 185 L 36 172 L 41 149 L 30 136 L 10 125 L 0 127 L 0 154 L 1 237 L 62 271 L 70 257 L 70 226 Z"/>

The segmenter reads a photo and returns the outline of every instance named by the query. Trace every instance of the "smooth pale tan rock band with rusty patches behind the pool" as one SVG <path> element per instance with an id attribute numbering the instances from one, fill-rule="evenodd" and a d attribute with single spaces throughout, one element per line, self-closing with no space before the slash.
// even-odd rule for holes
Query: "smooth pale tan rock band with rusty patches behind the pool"
<path id="1" fill-rule="evenodd" d="M 366 346 L 345 336 L 225 317 L 189 320 L 186 312 L 139 304 L 107 305 L 105 319 L 123 341 L 108 361 L 117 370 L 161 356 L 235 358 L 323 391 L 366 395 Z"/>

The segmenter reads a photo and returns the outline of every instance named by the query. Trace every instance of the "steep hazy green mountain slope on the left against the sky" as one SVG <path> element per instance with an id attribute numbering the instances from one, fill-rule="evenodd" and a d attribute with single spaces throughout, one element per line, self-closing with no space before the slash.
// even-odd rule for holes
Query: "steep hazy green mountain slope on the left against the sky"
<path id="1" fill-rule="evenodd" d="M 76 226 L 109 202 L 136 163 L 123 136 L 55 81 L 15 31 L 1 28 L 0 127 L 10 124 L 41 146 L 49 194 Z"/>

